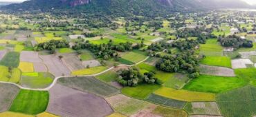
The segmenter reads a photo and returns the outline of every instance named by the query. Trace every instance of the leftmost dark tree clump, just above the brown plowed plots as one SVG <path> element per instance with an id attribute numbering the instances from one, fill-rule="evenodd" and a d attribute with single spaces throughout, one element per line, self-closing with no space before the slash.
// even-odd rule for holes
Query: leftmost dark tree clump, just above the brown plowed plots
<path id="1" fill-rule="evenodd" d="M 66 48 L 69 47 L 68 41 L 65 40 L 51 40 L 45 43 L 39 43 L 35 45 L 34 50 L 41 51 L 41 50 L 50 50 L 51 54 L 55 53 L 55 49 L 57 48 Z"/>

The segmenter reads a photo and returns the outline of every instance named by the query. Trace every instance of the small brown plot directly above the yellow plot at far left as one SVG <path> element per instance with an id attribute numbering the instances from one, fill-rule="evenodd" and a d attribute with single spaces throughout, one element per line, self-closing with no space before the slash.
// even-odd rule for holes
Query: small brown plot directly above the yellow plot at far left
<path id="1" fill-rule="evenodd" d="M 22 62 L 30 62 L 30 63 L 42 62 L 42 60 L 38 56 L 38 52 L 32 52 L 32 51 L 21 52 L 21 56 L 20 56 L 19 60 Z"/>

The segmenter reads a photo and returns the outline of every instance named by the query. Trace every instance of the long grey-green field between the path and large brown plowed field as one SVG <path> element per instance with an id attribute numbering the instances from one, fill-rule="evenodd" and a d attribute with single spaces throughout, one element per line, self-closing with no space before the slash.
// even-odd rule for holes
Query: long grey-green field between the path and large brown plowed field
<path id="1" fill-rule="evenodd" d="M 111 96 L 120 92 L 116 87 L 103 83 L 94 77 L 60 78 L 57 83 L 100 96 Z"/>

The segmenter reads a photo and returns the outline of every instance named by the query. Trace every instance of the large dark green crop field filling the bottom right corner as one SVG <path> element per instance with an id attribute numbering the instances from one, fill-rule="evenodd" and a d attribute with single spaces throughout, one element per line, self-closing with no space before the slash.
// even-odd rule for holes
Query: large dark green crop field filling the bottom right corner
<path id="1" fill-rule="evenodd" d="M 246 86 L 217 96 L 217 103 L 223 116 L 255 116 L 256 88 Z"/>

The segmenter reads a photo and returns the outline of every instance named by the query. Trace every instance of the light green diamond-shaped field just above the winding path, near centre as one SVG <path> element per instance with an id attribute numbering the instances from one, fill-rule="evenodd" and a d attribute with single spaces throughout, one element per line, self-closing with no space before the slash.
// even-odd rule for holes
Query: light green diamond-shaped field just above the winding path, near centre
<path id="1" fill-rule="evenodd" d="M 147 56 L 143 54 L 138 54 L 137 52 L 129 52 L 128 54 L 125 54 L 121 57 L 133 63 L 138 63 L 140 61 L 143 61 L 145 58 L 147 58 Z"/>

